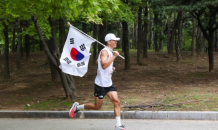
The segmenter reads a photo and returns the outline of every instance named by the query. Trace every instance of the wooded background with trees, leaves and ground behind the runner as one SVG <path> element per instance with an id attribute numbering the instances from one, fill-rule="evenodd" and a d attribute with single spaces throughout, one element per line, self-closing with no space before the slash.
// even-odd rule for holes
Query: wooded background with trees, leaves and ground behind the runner
<path id="1" fill-rule="evenodd" d="M 93 43 L 88 73 L 62 73 L 70 22 L 104 42 L 122 40 L 113 74 L 123 110 L 217 111 L 218 0 L 0 1 L 0 110 L 68 110 L 93 102 Z M 113 110 L 108 98 L 102 110 Z"/>

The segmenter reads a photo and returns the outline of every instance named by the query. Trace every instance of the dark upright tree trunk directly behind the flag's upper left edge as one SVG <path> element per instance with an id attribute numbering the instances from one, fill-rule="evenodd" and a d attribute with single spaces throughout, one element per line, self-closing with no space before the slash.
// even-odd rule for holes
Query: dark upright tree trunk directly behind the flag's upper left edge
<path id="1" fill-rule="evenodd" d="M 63 51 L 65 40 L 66 40 L 66 34 L 65 34 L 65 28 L 64 28 L 64 19 L 63 18 L 59 19 L 59 40 L 60 40 L 59 52 L 61 54 Z"/>

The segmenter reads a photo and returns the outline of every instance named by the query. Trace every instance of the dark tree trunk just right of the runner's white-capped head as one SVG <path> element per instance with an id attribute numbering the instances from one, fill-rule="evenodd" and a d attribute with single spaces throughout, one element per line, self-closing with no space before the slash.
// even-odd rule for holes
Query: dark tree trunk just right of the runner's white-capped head
<path id="1" fill-rule="evenodd" d="M 129 55 L 129 31 L 126 21 L 122 22 L 123 25 L 123 43 L 124 43 L 124 56 L 125 56 L 125 70 L 130 69 L 130 55 Z"/>

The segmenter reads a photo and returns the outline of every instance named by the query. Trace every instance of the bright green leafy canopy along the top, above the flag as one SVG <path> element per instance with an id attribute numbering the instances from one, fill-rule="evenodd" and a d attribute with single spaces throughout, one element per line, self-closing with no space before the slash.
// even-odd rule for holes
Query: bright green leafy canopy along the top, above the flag
<path id="1" fill-rule="evenodd" d="M 7 14 L 22 19 L 35 16 L 45 20 L 51 16 L 54 19 L 64 17 L 75 20 L 81 17 L 86 21 L 101 23 L 99 16 L 102 15 L 106 20 L 114 20 L 117 16 L 124 18 L 128 16 L 125 15 L 128 8 L 124 8 L 124 4 L 119 0 L 16 0 L 8 1 L 6 8 Z"/>

